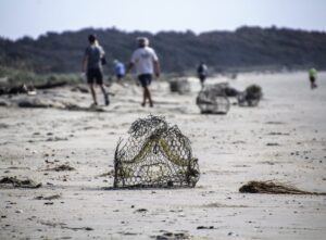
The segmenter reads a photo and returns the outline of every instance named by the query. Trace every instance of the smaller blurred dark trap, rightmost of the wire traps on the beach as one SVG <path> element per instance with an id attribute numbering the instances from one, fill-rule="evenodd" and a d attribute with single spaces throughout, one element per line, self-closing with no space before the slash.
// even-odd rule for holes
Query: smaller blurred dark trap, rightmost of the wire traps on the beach
<path id="1" fill-rule="evenodd" d="M 250 85 L 238 94 L 238 103 L 240 106 L 256 106 L 262 97 L 262 88 L 258 85 Z"/>

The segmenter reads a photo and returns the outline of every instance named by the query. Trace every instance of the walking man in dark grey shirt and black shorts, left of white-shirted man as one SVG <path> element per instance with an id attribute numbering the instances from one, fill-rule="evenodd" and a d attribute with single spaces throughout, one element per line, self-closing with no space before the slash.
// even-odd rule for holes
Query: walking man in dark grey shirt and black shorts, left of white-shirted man
<path id="1" fill-rule="evenodd" d="M 101 59 L 104 56 L 103 48 L 98 43 L 97 37 L 95 35 L 88 36 L 89 46 L 85 50 L 83 59 L 83 72 L 86 72 L 87 84 L 89 85 L 91 97 L 93 100 L 92 105 L 98 105 L 97 93 L 95 90 L 95 85 L 100 86 L 105 105 L 110 104 L 109 96 L 105 91 L 103 84 L 103 72 Z"/>

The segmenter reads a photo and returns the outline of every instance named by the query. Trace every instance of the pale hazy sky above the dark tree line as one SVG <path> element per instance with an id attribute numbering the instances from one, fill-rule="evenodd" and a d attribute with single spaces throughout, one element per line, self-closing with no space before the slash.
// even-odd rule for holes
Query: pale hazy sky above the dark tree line
<path id="1" fill-rule="evenodd" d="M 325 12 L 326 0 L 0 0 L 0 36 L 112 26 L 151 33 L 243 25 L 326 31 Z"/>

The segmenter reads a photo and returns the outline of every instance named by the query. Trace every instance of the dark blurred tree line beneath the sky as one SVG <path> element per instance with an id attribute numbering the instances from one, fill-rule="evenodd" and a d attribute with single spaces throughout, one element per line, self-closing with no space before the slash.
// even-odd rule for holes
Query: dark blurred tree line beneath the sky
<path id="1" fill-rule="evenodd" d="M 212 71 L 236 68 L 326 68 L 326 33 L 284 28 L 241 27 L 235 31 L 196 35 L 188 30 L 126 33 L 115 28 L 47 33 L 34 40 L 0 38 L 0 64 L 37 73 L 80 72 L 87 36 L 95 33 L 112 61 L 128 62 L 136 38 L 147 36 L 155 48 L 165 73 L 195 71 L 205 61 Z"/>

